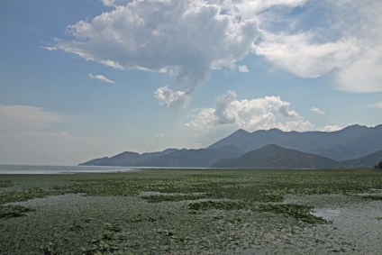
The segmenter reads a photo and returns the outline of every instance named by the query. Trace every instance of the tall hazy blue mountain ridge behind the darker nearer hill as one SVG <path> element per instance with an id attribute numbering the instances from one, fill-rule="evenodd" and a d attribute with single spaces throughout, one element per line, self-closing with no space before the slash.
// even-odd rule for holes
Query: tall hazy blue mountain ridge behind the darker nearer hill
<path id="1" fill-rule="evenodd" d="M 382 150 L 382 125 L 351 125 L 337 132 L 283 132 L 278 129 L 246 132 L 238 130 L 208 149 L 232 145 L 248 152 L 268 144 L 314 153 L 335 160 L 356 159 Z"/>

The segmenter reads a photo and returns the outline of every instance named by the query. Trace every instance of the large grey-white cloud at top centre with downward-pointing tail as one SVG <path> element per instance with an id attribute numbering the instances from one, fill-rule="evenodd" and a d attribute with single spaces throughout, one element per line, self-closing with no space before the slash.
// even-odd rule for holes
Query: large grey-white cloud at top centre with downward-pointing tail
<path id="1" fill-rule="evenodd" d="M 191 91 L 213 69 L 234 68 L 253 50 L 259 30 L 255 20 L 238 20 L 202 0 L 141 0 L 68 32 L 76 40 L 59 42 L 61 50 L 112 67 L 167 72 Z"/>

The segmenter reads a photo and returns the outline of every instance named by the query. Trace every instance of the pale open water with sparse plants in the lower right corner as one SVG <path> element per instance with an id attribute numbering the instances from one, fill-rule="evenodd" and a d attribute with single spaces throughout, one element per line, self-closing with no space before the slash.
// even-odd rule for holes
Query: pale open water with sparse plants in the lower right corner
<path id="1" fill-rule="evenodd" d="M 382 201 L 360 196 L 289 196 L 296 204 L 316 205 L 314 215 L 330 224 L 306 228 L 295 241 L 316 243 L 315 254 L 378 254 L 382 250 Z M 305 242 L 306 244 L 306 242 Z"/>

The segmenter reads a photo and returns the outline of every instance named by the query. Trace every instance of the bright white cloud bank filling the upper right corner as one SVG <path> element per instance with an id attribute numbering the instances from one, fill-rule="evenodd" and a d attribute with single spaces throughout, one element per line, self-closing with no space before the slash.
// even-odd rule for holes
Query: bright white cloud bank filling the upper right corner
<path id="1" fill-rule="evenodd" d="M 275 67 L 299 77 L 331 74 L 341 90 L 352 93 L 381 92 L 382 2 L 309 1 L 309 13 L 322 13 L 306 25 L 304 15 L 266 15 L 259 27 L 262 36 L 256 53 Z M 304 3 L 302 3 L 304 4 Z M 267 12 L 266 12 L 267 13 Z M 261 18 L 260 18 L 261 19 Z M 272 22 L 272 20 L 276 22 Z M 280 29 L 280 21 L 286 23 Z M 275 26 L 272 26 L 275 24 Z M 276 29 L 277 28 L 277 29 Z"/>

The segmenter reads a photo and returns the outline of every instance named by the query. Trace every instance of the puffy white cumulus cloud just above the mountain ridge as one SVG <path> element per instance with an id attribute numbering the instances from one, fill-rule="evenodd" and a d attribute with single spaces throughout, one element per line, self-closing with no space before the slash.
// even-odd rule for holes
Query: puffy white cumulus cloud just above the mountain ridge
<path id="1" fill-rule="evenodd" d="M 312 123 L 290 110 L 290 103 L 278 96 L 237 100 L 236 94 L 228 91 L 227 94 L 216 97 L 214 105 L 214 108 L 199 110 L 195 119 L 186 123 L 186 126 L 198 131 L 208 131 L 223 125 L 250 131 L 270 128 L 306 131 L 313 128 Z"/>

